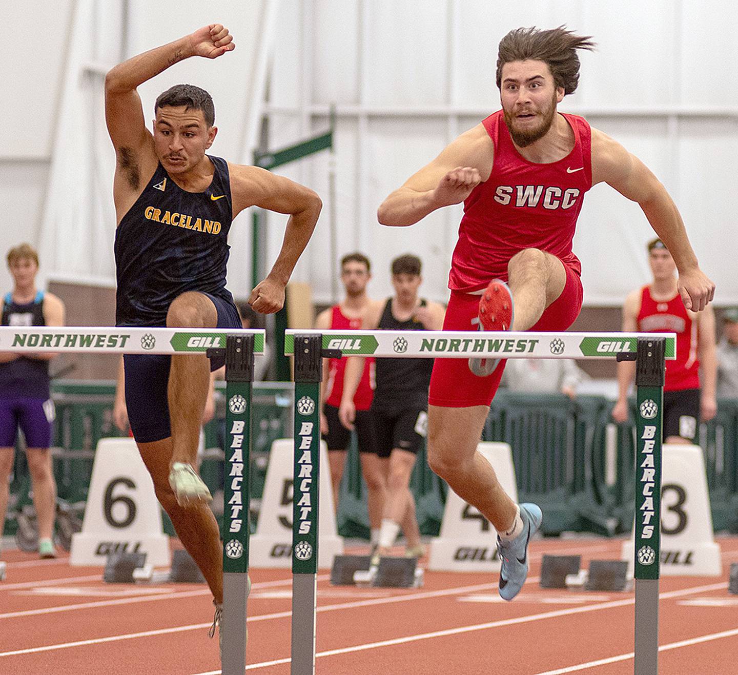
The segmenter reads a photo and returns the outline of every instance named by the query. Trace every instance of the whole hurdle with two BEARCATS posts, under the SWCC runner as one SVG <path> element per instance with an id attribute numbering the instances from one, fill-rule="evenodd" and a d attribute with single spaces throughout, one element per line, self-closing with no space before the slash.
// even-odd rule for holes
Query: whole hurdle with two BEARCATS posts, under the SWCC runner
<path id="1" fill-rule="evenodd" d="M 318 387 L 322 359 L 342 356 L 635 361 L 638 415 L 634 672 L 636 675 L 658 673 L 663 382 L 665 361 L 676 358 L 675 333 L 289 329 L 285 331 L 285 355 L 294 356 L 295 372 L 292 675 L 312 675 L 315 672 L 317 477 L 320 470 L 320 423 L 316 402 L 320 400 Z"/>

